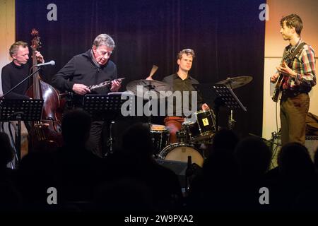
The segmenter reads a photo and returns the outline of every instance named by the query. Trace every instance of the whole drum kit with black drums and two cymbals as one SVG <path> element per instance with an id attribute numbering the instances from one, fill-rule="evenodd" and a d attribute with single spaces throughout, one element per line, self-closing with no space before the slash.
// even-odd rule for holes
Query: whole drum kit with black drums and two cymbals
<path id="1" fill-rule="evenodd" d="M 217 84 L 225 84 L 234 89 L 246 85 L 250 81 L 252 81 L 251 76 L 240 76 L 228 78 Z M 158 93 L 158 98 L 163 97 L 159 95 L 160 91 L 172 91 L 172 88 L 167 83 L 152 79 L 132 81 L 126 86 L 126 89 L 139 96 L 140 93 L 137 93 L 136 89 L 137 85 L 142 85 L 146 91 L 155 91 Z M 212 138 L 216 133 L 216 116 L 212 109 L 194 112 L 191 118 L 185 118 L 182 123 L 182 129 L 177 131 L 176 134 L 177 143 L 170 143 L 170 130 L 167 126 L 151 124 L 150 119 L 149 124 L 151 125 L 151 137 L 156 158 L 187 162 L 188 156 L 191 156 L 192 162 L 202 167 L 204 153 L 199 147 L 211 144 Z"/>

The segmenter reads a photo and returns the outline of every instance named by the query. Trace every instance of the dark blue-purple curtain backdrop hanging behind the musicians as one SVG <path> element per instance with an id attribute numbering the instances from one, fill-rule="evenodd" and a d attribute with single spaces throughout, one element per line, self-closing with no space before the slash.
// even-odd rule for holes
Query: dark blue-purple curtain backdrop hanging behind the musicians
<path id="1" fill-rule="evenodd" d="M 235 89 L 248 112 L 234 112 L 235 131 L 261 135 L 263 111 L 264 28 L 259 5 L 264 0 L 135 0 L 61 1 L 16 0 L 16 40 L 31 40 L 37 28 L 40 51 L 56 65 L 47 71 L 49 83 L 73 55 L 89 49 L 94 38 L 107 33 L 116 48 L 112 61 L 126 83 L 146 78 L 161 80 L 177 70 L 176 54 L 184 48 L 196 52 L 191 75 L 201 83 L 228 77 L 252 76 Z M 47 5 L 57 5 L 57 21 L 47 20 Z M 123 88 L 124 90 L 124 88 Z M 225 126 L 228 111 L 220 112 Z"/>

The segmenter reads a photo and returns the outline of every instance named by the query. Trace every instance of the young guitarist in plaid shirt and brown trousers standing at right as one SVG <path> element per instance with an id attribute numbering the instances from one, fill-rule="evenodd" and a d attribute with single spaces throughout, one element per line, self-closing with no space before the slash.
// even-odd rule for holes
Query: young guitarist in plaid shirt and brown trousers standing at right
<path id="1" fill-rule="evenodd" d="M 305 145 L 305 119 L 310 107 L 308 93 L 316 85 L 314 49 L 305 44 L 301 37 L 302 20 L 296 14 L 281 19 L 280 33 L 289 42 L 282 60 L 276 67 L 277 73 L 271 82 L 281 79 L 281 143 L 298 142 Z M 283 57 L 283 58 L 284 58 Z"/>

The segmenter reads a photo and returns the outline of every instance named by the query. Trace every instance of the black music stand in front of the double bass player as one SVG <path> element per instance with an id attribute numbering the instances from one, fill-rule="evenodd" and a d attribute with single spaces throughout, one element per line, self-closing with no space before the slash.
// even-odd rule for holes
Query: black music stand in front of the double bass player
<path id="1" fill-rule="evenodd" d="M 17 162 L 21 153 L 21 121 L 40 121 L 42 117 L 43 100 L 0 100 L 0 121 L 18 121 L 16 143 Z"/>

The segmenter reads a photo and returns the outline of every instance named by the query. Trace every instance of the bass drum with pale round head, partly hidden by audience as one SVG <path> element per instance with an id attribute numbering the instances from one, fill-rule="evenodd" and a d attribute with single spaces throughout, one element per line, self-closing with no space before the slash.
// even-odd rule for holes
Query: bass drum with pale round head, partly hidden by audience
<path id="1" fill-rule="evenodd" d="M 163 160 L 179 162 L 188 162 L 188 156 L 191 156 L 192 163 L 196 163 L 200 167 L 203 166 L 204 157 L 199 153 L 199 150 L 188 143 L 172 143 L 163 148 L 159 154 Z"/>

